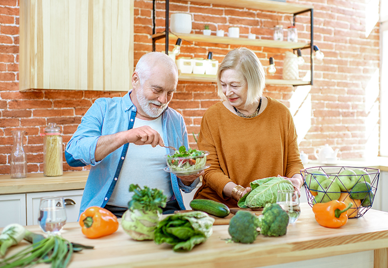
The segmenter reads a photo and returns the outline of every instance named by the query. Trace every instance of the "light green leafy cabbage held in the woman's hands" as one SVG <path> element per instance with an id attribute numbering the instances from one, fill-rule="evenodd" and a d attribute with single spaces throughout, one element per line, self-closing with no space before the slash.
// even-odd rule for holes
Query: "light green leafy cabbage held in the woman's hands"
<path id="1" fill-rule="evenodd" d="M 264 207 L 266 203 L 276 203 L 278 190 L 294 189 L 292 182 L 282 177 L 259 179 L 250 185 L 252 190 L 237 203 L 240 208 Z"/>

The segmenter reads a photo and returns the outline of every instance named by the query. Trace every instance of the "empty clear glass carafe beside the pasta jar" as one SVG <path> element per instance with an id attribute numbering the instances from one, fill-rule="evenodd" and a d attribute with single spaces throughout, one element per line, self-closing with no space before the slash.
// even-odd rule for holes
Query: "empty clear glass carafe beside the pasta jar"
<path id="1" fill-rule="evenodd" d="M 23 149 L 24 130 L 12 130 L 13 148 L 11 152 L 11 178 L 27 177 L 27 158 Z"/>

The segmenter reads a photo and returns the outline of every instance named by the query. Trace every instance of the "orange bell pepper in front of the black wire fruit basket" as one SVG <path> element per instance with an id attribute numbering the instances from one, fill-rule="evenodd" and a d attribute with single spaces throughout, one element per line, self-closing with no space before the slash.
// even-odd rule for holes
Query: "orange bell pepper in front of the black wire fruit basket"
<path id="1" fill-rule="evenodd" d="M 316 203 L 312 206 L 316 221 L 319 225 L 329 228 L 338 228 L 348 222 L 346 212 L 353 204 L 346 205 L 344 202 L 332 200 L 327 203 Z"/>

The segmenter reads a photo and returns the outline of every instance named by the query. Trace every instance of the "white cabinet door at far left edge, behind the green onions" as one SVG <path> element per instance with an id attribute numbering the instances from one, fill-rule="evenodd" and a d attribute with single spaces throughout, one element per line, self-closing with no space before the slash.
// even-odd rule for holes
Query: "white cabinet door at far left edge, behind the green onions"
<path id="1" fill-rule="evenodd" d="M 9 224 L 26 225 L 26 194 L 0 196 L 0 228 Z"/>

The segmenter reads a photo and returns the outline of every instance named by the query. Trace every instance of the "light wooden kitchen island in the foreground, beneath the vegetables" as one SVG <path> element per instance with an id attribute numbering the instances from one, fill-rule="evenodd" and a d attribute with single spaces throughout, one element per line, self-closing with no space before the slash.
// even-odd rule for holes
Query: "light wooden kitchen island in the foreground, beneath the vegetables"
<path id="1" fill-rule="evenodd" d="M 41 233 L 38 226 L 27 228 Z M 348 264 L 346 267 L 388 266 L 388 213 L 373 209 L 360 218 L 349 219 L 341 228 L 330 229 L 318 225 L 311 207 L 307 203 L 302 203 L 299 220 L 288 226 L 287 234 L 284 236 L 259 235 L 252 244 L 232 243 L 226 240 L 230 238 L 228 225 L 217 225 L 213 226 L 210 238 L 190 252 L 173 252 L 171 246 L 166 244 L 155 245 L 153 241 L 132 240 L 121 226 L 112 235 L 88 239 L 82 234 L 78 223 L 67 223 L 62 235 L 72 242 L 95 247 L 93 250 L 75 253 L 69 268 L 204 268 L 267 265 L 315 268 L 321 267 L 319 264 L 334 265 L 333 261 L 336 261 L 336 267 L 340 267 L 338 259 L 345 261 Z M 28 243 L 23 241 L 19 246 L 13 247 L 9 254 L 21 250 L 22 245 L 26 246 Z M 317 265 L 311 265 L 311 261 L 315 261 L 312 259 L 317 258 L 323 259 L 316 261 Z M 41 264 L 36 267 L 47 265 Z"/>

